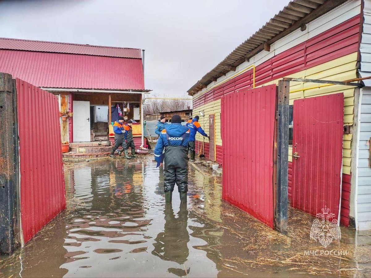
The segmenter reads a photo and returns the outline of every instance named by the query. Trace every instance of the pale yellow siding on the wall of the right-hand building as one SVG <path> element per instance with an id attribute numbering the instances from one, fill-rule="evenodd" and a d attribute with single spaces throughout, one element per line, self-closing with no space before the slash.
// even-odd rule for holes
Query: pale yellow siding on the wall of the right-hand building
<path id="1" fill-rule="evenodd" d="M 344 57 L 329 61 L 324 64 L 320 64 L 315 67 L 311 67 L 301 72 L 293 73 L 286 77 L 294 78 L 307 78 L 307 79 L 324 79 L 334 81 L 344 81 L 356 76 L 356 63 L 357 53 L 352 53 Z M 278 80 L 265 83 L 260 86 L 266 86 L 270 84 L 277 84 Z M 299 90 L 307 87 L 313 87 L 317 84 L 303 83 L 303 82 L 290 82 L 290 91 Z M 344 93 L 344 125 L 353 124 L 354 116 L 354 87 L 333 85 L 328 87 L 316 88 L 311 90 L 299 91 L 290 93 L 290 105 L 293 104 L 295 99 L 302 99 L 305 97 L 328 95 L 331 93 Z M 200 116 L 201 127 L 206 133 L 209 133 L 209 115 L 216 113 L 216 133 L 217 133 L 217 145 L 221 146 L 221 133 L 220 133 L 220 100 L 207 103 L 206 105 L 193 109 L 193 115 L 199 115 L 200 111 L 205 112 L 205 116 Z M 201 140 L 202 136 L 197 133 L 196 140 Z M 343 137 L 343 173 L 350 174 L 351 165 L 351 139 L 352 135 L 344 135 Z M 205 139 L 209 142 L 208 139 Z M 289 148 L 289 161 L 292 161 L 292 148 Z"/>

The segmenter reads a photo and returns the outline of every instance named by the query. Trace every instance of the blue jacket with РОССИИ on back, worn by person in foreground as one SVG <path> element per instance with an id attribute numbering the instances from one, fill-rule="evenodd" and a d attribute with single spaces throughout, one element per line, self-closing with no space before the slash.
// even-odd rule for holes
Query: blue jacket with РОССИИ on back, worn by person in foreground
<path id="1" fill-rule="evenodd" d="M 171 125 L 166 125 L 166 129 L 163 129 L 160 136 L 158 137 L 157 144 L 154 150 L 155 159 L 157 162 L 158 159 L 160 159 L 160 155 L 162 155 L 162 151 L 164 150 L 164 148 L 169 145 L 169 143 L 167 142 L 166 133 L 169 136 L 171 146 L 188 146 L 190 130 L 186 126 L 183 126 L 180 123 L 172 123 Z M 185 135 L 184 140 L 183 135 Z M 181 144 L 182 140 L 183 144 Z"/>

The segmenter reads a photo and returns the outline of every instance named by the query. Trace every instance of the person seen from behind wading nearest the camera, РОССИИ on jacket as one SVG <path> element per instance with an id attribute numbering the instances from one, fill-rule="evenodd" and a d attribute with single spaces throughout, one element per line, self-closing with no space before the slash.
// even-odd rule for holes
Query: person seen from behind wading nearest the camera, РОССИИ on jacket
<path id="1" fill-rule="evenodd" d="M 188 191 L 188 139 L 189 129 L 181 125 L 179 115 L 171 118 L 171 125 L 161 131 L 154 150 L 155 160 L 160 162 L 164 154 L 164 191 L 165 202 L 171 203 L 174 186 L 177 183 L 180 202 L 187 202 Z"/>

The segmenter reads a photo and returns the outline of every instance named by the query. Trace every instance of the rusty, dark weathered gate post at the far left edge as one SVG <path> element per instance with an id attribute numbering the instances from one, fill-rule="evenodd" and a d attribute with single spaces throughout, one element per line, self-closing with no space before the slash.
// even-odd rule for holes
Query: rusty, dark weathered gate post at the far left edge
<path id="1" fill-rule="evenodd" d="M 10 74 L 0 73 L 0 254 L 12 254 L 19 242 L 17 96 L 13 81 Z"/>

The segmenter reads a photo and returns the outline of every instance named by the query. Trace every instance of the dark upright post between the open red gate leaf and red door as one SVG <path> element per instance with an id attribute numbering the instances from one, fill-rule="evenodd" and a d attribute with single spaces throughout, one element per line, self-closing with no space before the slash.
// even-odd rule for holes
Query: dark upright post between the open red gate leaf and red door
<path id="1" fill-rule="evenodd" d="M 278 81 L 276 228 L 287 232 L 290 81 Z"/>

